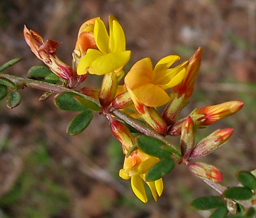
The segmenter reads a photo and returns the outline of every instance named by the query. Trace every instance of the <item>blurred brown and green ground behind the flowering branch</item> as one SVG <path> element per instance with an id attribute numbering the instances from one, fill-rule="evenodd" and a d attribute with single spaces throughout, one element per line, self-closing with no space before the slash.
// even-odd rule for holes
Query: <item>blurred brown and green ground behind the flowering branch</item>
<path id="1" fill-rule="evenodd" d="M 215 129 L 233 127 L 228 143 L 201 161 L 218 166 L 224 185 L 235 173 L 256 168 L 256 1 L 255 0 L 0 0 L 0 64 L 22 57 L 5 73 L 26 77 L 43 65 L 23 39 L 23 25 L 44 39 L 63 42 L 57 55 L 71 64 L 79 26 L 115 15 L 126 33 L 133 63 L 169 54 L 187 60 L 202 46 L 202 65 L 186 116 L 195 107 L 240 99 L 237 114 L 197 131 L 197 141 Z M 88 76 L 84 86 L 99 87 Z M 129 180 L 118 177 L 123 154 L 107 119 L 95 113 L 89 127 L 70 137 L 66 128 L 77 114 L 57 109 L 42 91 L 26 88 L 15 109 L 0 101 L 0 218 L 200 218 L 191 200 L 217 194 L 178 165 L 164 176 L 164 193 L 141 203 Z M 177 139 L 171 138 L 178 142 Z"/>

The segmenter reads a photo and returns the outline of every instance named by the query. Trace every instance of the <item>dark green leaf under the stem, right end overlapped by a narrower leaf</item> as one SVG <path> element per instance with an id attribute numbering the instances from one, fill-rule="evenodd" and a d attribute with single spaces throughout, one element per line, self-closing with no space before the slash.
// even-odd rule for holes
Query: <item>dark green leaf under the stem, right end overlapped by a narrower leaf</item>
<path id="1" fill-rule="evenodd" d="M 62 92 L 60 94 L 57 94 L 54 97 L 54 103 L 59 109 L 65 110 L 65 111 L 86 110 L 86 107 L 79 104 L 79 102 L 76 99 L 74 99 L 75 96 L 78 96 L 78 95 L 72 92 Z"/>

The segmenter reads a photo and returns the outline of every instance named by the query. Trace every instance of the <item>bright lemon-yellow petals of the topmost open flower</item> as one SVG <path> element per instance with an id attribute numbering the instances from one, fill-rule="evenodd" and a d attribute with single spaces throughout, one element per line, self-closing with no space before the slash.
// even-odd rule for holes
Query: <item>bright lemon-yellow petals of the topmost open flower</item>
<path id="1" fill-rule="evenodd" d="M 93 35 L 97 49 L 89 48 L 78 63 L 77 74 L 103 75 L 122 70 L 130 60 L 131 51 L 125 50 L 125 34 L 118 20 L 109 16 L 109 34 L 104 22 L 97 18 L 94 23 Z M 123 72 L 121 72 L 123 74 Z M 117 75 L 119 76 L 119 75 Z"/>

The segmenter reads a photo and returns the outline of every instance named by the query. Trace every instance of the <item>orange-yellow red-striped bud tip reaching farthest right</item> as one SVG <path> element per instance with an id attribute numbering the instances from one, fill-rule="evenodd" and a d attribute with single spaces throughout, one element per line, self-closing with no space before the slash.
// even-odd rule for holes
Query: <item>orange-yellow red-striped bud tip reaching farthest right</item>
<path id="1" fill-rule="evenodd" d="M 222 104 L 202 107 L 197 111 L 197 114 L 205 116 L 197 119 L 197 121 L 202 120 L 201 126 L 210 125 L 219 119 L 238 112 L 243 107 L 243 104 L 243 101 L 227 101 Z"/>

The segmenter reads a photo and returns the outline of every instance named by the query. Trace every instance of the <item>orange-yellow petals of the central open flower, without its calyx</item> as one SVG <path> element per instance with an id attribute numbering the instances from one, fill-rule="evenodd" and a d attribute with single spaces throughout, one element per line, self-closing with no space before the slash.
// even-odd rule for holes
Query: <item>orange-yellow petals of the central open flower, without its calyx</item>
<path id="1" fill-rule="evenodd" d="M 125 85 L 134 105 L 140 111 L 141 104 L 157 107 L 166 104 L 170 97 L 166 89 L 178 85 L 185 74 L 187 61 L 169 68 L 179 60 L 177 55 L 169 55 L 160 59 L 155 68 L 150 58 L 137 61 L 125 76 Z"/>

